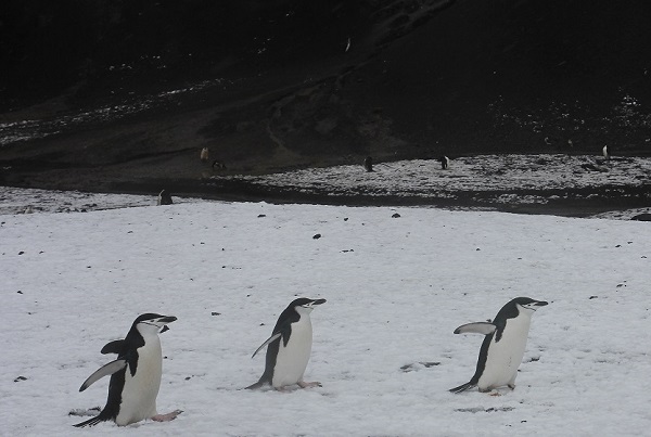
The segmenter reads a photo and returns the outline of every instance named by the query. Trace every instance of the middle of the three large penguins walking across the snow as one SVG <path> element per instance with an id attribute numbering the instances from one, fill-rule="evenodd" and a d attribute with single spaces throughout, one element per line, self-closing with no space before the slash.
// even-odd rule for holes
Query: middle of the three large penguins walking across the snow
<path id="1" fill-rule="evenodd" d="M 302 388 L 321 386 L 321 383 L 304 382 L 303 375 L 311 354 L 312 330 L 309 313 L 315 306 L 324 303 L 326 299 L 301 297 L 282 311 L 271 336 L 252 356 L 255 357 L 265 346 L 269 346 L 265 372 L 257 383 L 246 388 L 271 385 L 276 389 L 282 389 L 294 384 Z"/>

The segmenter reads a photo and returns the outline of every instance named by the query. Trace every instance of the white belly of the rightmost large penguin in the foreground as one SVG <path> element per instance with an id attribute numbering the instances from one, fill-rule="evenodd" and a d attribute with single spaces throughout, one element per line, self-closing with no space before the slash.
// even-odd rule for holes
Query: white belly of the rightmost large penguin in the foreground
<path id="1" fill-rule="evenodd" d="M 481 390 L 488 390 L 515 382 L 518 368 L 524 357 L 529 324 L 531 317 L 521 316 L 508 319 L 499 342 L 495 340 L 497 335 L 494 335 L 488 347 L 484 372 L 477 382 Z"/>

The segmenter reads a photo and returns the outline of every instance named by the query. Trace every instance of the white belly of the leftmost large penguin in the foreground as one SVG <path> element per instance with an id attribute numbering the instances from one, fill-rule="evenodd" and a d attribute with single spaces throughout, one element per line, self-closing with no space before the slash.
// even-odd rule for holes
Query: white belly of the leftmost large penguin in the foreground
<path id="1" fill-rule="evenodd" d="M 146 345 L 138 349 L 136 375 L 127 365 L 125 387 L 122 393 L 119 412 L 115 423 L 124 426 L 156 415 L 156 397 L 163 374 L 163 354 L 158 337 L 148 338 Z"/>

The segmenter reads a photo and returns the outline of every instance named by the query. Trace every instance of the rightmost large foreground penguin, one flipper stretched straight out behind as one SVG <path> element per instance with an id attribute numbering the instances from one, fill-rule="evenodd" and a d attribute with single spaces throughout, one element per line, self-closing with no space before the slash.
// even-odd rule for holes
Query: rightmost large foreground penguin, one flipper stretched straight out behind
<path id="1" fill-rule="evenodd" d="M 538 307 L 547 305 L 542 300 L 516 297 L 499 310 L 493 322 L 476 322 L 461 325 L 455 334 L 484 334 L 480 349 L 477 368 L 470 382 L 451 388 L 451 393 L 465 391 L 477 386 L 480 391 L 508 385 L 515 388 L 518 368 L 524 357 L 532 314 Z"/>

